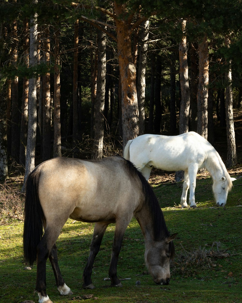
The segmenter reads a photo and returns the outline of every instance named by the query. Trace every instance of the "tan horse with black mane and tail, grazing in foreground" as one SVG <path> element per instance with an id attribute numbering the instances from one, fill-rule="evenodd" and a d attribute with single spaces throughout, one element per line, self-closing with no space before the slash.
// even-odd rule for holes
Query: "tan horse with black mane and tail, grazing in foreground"
<path id="1" fill-rule="evenodd" d="M 72 294 L 60 273 L 55 245 L 68 218 L 96 222 L 83 272 L 83 287 L 90 289 L 94 288 L 93 262 L 104 232 L 110 223 L 116 223 L 109 276 L 112 286 L 122 286 L 117 262 L 133 216 L 145 238 L 145 260 L 153 281 L 167 285 L 176 234 L 169 234 L 152 188 L 131 162 L 121 157 L 93 161 L 59 157 L 38 165 L 26 181 L 24 256 L 30 265 L 37 259 L 39 302 L 52 302 L 46 293 L 47 258 L 60 294 Z"/>

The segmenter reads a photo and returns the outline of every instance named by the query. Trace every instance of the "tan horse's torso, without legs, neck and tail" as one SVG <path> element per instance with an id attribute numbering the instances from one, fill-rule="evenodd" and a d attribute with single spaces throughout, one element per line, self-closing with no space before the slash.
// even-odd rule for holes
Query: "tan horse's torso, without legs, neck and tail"
<path id="1" fill-rule="evenodd" d="M 43 162 L 39 198 L 48 221 L 65 214 L 63 221 L 70 217 L 114 222 L 117 212 L 136 209 L 140 187 L 126 164 L 119 157 L 93 161 L 60 157 Z"/>

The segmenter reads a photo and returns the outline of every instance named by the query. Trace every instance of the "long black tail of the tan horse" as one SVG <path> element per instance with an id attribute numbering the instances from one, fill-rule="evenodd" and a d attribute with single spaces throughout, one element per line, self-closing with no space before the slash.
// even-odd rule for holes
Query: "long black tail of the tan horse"
<path id="1" fill-rule="evenodd" d="M 40 205 L 38 184 L 40 169 L 34 169 L 26 181 L 26 197 L 24 210 L 24 258 L 29 265 L 33 265 L 37 258 L 37 245 L 43 235 L 44 213 Z"/>

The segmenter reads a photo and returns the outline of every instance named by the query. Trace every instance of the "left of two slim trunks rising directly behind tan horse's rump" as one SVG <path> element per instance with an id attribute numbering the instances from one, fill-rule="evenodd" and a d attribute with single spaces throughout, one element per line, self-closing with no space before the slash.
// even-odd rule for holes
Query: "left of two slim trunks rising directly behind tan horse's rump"
<path id="1" fill-rule="evenodd" d="M 50 64 L 50 33 L 49 28 L 45 30 L 44 39 L 45 62 Z M 50 72 L 43 76 L 43 150 L 42 159 L 46 161 L 51 158 L 51 83 Z"/>

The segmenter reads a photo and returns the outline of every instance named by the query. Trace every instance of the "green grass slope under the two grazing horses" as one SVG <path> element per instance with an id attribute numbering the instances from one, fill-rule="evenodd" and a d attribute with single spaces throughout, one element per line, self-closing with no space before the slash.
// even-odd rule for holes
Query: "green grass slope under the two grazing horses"
<path id="1" fill-rule="evenodd" d="M 51 265 L 47 262 L 47 294 L 54 303 L 83 301 L 100 303 L 241 303 L 242 302 L 242 179 L 234 182 L 224 208 L 216 207 L 211 179 L 197 180 L 196 209 L 181 209 L 182 184 L 167 183 L 154 188 L 165 221 L 175 239 L 176 256 L 171 264 L 171 282 L 155 285 L 144 264 L 144 238 L 133 219 L 124 236 L 118 263 L 123 288 L 109 287 L 108 277 L 115 225 L 107 228 L 93 268 L 94 290 L 82 289 L 93 224 L 68 220 L 57 241 L 59 265 L 71 296 L 60 296 L 55 286 Z M 0 302 L 38 302 L 33 294 L 36 265 L 25 270 L 22 252 L 22 221 L 0 226 Z M 140 285 L 136 286 L 136 281 Z"/>

